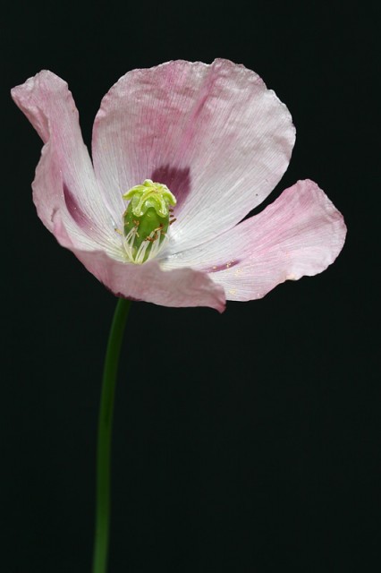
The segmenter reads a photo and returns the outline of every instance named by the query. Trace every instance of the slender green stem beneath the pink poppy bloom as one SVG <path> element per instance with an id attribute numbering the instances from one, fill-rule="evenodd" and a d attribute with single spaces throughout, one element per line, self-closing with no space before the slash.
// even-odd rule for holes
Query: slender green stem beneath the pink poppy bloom
<path id="1" fill-rule="evenodd" d="M 131 301 L 120 298 L 108 337 L 97 428 L 97 509 L 93 573 L 106 573 L 110 529 L 110 461 L 114 393 L 124 325 Z"/>

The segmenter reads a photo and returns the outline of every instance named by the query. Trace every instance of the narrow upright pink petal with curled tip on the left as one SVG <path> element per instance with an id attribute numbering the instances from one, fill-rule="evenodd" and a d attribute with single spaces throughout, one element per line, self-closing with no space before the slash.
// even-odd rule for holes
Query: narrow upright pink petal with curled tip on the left
<path id="1" fill-rule="evenodd" d="M 67 83 L 44 70 L 13 88 L 12 97 L 45 143 L 33 182 L 38 217 L 52 231 L 55 213 L 82 248 L 114 238 L 112 218 L 102 201 L 78 111 Z"/>

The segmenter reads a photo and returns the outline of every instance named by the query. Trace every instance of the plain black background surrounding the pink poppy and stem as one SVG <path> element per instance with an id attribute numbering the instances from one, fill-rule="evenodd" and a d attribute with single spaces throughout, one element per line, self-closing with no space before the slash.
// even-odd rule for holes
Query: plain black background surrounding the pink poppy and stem
<path id="1" fill-rule="evenodd" d="M 6 8 L 4 572 L 90 571 L 97 405 L 115 304 L 36 216 L 41 143 L 9 90 L 42 68 L 63 77 L 89 144 L 100 99 L 123 73 L 215 57 L 255 70 L 292 113 L 291 165 L 266 204 L 314 179 L 343 212 L 347 242 L 318 277 L 229 303 L 223 315 L 132 304 L 114 416 L 109 571 L 381 569 L 372 5 Z"/>

